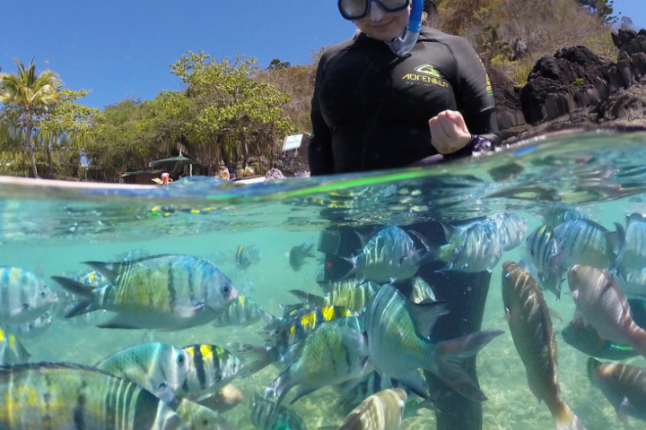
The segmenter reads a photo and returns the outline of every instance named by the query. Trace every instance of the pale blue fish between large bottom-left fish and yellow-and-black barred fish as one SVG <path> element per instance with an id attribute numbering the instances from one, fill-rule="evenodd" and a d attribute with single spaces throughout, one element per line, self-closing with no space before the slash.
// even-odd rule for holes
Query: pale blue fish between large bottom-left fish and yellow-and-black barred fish
<path id="1" fill-rule="evenodd" d="M 96 364 L 96 368 L 136 383 L 167 405 L 174 406 L 175 392 L 186 382 L 190 356 L 181 348 L 163 343 L 143 343 L 124 348 Z"/>

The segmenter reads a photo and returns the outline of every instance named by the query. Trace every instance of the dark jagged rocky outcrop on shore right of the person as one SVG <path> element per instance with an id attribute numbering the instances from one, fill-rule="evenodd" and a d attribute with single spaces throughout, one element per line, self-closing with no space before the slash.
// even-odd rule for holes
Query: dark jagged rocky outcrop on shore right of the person
<path id="1" fill-rule="evenodd" d="M 493 79 L 496 103 L 505 98 L 499 108 L 503 139 L 577 126 L 646 126 L 646 30 L 619 30 L 613 41 L 620 50 L 616 62 L 581 46 L 538 60 L 519 91 L 525 126 L 508 121 L 515 108 L 512 87 L 496 90 L 500 80 Z"/>

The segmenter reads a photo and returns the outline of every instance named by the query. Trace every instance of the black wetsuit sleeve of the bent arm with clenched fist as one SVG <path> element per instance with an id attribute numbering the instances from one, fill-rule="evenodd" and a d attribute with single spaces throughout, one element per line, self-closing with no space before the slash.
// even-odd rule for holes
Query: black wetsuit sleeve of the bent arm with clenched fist
<path id="1" fill-rule="evenodd" d="M 456 58 L 458 73 L 458 110 L 465 118 L 469 133 L 474 135 L 463 150 L 469 153 L 484 150 L 484 142 L 491 142 L 491 146 L 499 146 L 502 142 L 501 134 L 498 130 L 493 91 L 485 66 L 467 39 L 457 38 L 457 43 L 451 48 Z"/>

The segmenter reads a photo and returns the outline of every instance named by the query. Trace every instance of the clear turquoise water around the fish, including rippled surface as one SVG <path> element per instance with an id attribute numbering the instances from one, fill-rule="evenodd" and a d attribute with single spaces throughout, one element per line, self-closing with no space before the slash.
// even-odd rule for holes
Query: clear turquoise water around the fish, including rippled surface
<path id="1" fill-rule="evenodd" d="M 477 159 L 460 159 L 429 168 L 364 175 L 291 178 L 253 185 L 185 178 L 164 187 L 61 184 L 0 177 L 0 266 L 42 274 L 48 287 L 62 294 L 52 276 L 74 277 L 92 268 L 83 262 L 121 262 L 137 256 L 183 254 L 202 257 L 228 276 L 244 297 L 269 314 L 281 316 L 282 304 L 297 304 L 290 294 L 301 289 L 322 296 L 317 285 L 323 254 L 319 233 L 332 226 L 409 226 L 425 221 L 456 222 L 513 213 L 527 221 L 527 236 L 546 214 L 579 211 L 614 230 L 625 216 L 646 213 L 646 133 L 563 134 L 528 142 Z M 290 264 L 293 247 L 313 244 L 298 271 Z M 261 256 L 241 268 L 239 246 L 255 246 Z M 554 428 L 545 403 L 528 388 L 525 368 L 502 320 L 502 262 L 519 262 L 521 245 L 505 251 L 492 268 L 483 328 L 505 331 L 477 355 L 485 429 Z M 292 255 L 293 257 L 293 255 Z M 244 264 L 243 264 L 244 266 Z M 459 268 L 454 269 L 459 270 Z M 319 275 L 317 275 L 319 273 Z M 431 285 L 431 287 L 433 287 Z M 567 291 L 567 282 L 563 291 Z M 588 356 L 563 341 L 572 297 L 560 300 L 545 291 L 546 303 L 563 322 L 553 319 L 558 344 L 563 398 L 588 430 L 619 425 L 615 409 L 586 374 Z M 263 345 L 258 330 L 215 327 L 206 323 L 185 330 L 126 330 L 74 323 L 58 315 L 47 331 L 19 339 L 31 363 L 66 362 L 94 366 L 121 348 L 155 341 L 176 347 L 226 346 L 229 342 Z M 438 322 L 442 323 L 441 319 Z M 608 360 L 601 360 L 608 361 Z M 643 357 L 624 364 L 646 367 Z M 255 428 L 249 402 L 278 374 L 268 366 L 231 383 L 242 402 L 223 413 L 233 428 Z M 290 405 L 310 429 L 338 426 L 345 415 L 335 409 L 338 394 L 323 388 Z M 275 400 L 275 399 L 274 399 Z M 435 413 L 421 409 L 401 428 L 434 428 Z M 629 417 L 626 429 L 644 422 Z"/>

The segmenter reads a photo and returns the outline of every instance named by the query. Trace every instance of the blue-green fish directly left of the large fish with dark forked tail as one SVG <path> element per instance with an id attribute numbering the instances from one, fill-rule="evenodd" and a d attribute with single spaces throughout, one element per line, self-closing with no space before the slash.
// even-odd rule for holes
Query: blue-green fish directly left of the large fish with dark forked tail
<path id="1" fill-rule="evenodd" d="M 319 388 L 359 379 L 370 373 L 372 369 L 368 365 L 362 325 L 361 317 L 340 318 L 321 324 L 280 357 L 281 364 L 287 368 L 266 387 L 265 397 L 277 397 L 280 404 L 287 392 L 298 386 L 293 403 Z"/>

